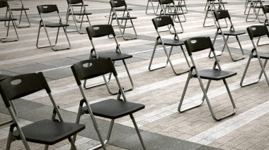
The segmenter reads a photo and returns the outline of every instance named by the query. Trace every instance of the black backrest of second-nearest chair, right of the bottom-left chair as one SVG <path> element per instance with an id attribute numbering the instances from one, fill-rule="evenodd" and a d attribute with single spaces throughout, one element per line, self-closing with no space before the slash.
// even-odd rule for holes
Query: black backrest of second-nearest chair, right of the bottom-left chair
<path id="1" fill-rule="evenodd" d="M 71 65 L 71 70 L 76 79 L 77 85 L 81 85 L 81 80 L 87 80 L 107 73 L 118 75 L 110 58 L 95 58 L 80 61 Z"/>

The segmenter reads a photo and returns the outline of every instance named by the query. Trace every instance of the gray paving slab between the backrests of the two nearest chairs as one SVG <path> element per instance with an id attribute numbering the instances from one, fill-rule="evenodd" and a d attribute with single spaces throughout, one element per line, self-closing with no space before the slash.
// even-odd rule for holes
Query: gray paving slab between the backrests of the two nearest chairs
<path id="1" fill-rule="evenodd" d="M 73 75 L 70 67 L 46 71 L 43 74 L 46 78 L 50 78 L 52 80 L 62 79 Z"/>

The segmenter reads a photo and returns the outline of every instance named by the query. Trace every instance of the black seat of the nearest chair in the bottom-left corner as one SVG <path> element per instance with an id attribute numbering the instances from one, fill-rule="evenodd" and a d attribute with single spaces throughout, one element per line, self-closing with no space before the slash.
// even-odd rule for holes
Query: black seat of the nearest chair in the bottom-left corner
<path id="1" fill-rule="evenodd" d="M 28 142 L 52 145 L 61 142 L 67 137 L 85 129 L 85 125 L 76 123 L 63 123 L 54 120 L 40 120 L 21 127 L 25 139 Z M 18 130 L 13 132 L 13 136 L 20 139 Z"/>

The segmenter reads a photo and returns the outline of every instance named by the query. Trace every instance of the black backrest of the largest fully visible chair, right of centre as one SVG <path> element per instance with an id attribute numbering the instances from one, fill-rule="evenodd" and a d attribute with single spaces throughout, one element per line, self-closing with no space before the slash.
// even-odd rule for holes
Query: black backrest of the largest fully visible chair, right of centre
<path id="1" fill-rule="evenodd" d="M 202 51 L 204 49 L 211 49 L 214 51 L 214 46 L 210 37 L 193 37 L 184 41 L 189 56 L 195 51 Z"/>

